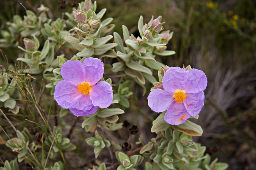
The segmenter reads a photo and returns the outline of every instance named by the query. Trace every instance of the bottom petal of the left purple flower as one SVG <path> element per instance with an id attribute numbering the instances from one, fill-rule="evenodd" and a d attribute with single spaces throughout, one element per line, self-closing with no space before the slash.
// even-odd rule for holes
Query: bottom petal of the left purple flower
<path id="1" fill-rule="evenodd" d="M 91 103 L 89 95 L 80 94 L 72 101 L 69 110 L 75 116 L 89 116 L 94 114 L 98 110 L 98 107 Z"/>

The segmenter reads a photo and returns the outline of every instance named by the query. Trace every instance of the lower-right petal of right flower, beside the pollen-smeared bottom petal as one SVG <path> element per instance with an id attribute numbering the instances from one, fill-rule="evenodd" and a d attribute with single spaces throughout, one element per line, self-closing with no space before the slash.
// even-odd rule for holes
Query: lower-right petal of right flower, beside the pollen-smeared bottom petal
<path id="1" fill-rule="evenodd" d="M 187 94 L 187 98 L 183 103 L 188 113 L 191 116 L 196 116 L 204 105 L 204 92 L 200 91 L 196 94 Z"/>

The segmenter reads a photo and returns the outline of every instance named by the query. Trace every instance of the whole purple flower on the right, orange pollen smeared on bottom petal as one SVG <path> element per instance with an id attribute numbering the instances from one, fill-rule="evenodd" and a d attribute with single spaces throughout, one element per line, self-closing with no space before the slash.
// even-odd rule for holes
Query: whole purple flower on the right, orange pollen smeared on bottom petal
<path id="1" fill-rule="evenodd" d="M 163 76 L 164 90 L 151 91 L 148 105 L 155 112 L 167 110 L 165 121 L 168 124 L 183 124 L 190 116 L 196 116 L 201 111 L 206 86 L 207 78 L 203 71 L 171 67 Z"/>

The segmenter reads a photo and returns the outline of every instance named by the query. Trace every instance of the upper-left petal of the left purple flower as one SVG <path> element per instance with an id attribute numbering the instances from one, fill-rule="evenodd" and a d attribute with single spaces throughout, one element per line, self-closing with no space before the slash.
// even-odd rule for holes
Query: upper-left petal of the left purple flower
<path id="1" fill-rule="evenodd" d="M 64 80 L 80 84 L 85 82 L 85 67 L 78 61 L 66 61 L 61 67 L 60 74 Z"/>

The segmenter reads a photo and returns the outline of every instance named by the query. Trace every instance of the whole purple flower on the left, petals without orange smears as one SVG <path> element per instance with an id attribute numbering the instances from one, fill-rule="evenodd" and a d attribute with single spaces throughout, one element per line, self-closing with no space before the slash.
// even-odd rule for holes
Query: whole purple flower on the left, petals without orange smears
<path id="1" fill-rule="evenodd" d="M 107 108 L 113 101 L 109 83 L 101 81 L 104 64 L 100 59 L 68 60 L 61 67 L 64 80 L 57 83 L 54 99 L 62 108 L 69 108 L 75 116 L 94 114 L 98 107 Z M 98 82 L 98 83 L 97 83 Z"/>

